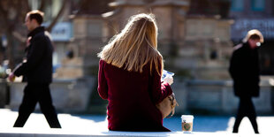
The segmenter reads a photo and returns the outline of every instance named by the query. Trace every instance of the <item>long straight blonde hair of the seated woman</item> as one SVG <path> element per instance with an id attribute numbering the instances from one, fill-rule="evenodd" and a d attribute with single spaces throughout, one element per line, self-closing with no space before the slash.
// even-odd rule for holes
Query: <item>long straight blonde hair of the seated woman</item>
<path id="1" fill-rule="evenodd" d="M 153 14 L 133 15 L 121 33 L 103 47 L 98 57 L 130 72 L 142 72 L 143 66 L 149 63 L 151 73 L 154 63 L 156 72 L 161 75 L 164 64 L 157 50 L 157 29 Z"/>

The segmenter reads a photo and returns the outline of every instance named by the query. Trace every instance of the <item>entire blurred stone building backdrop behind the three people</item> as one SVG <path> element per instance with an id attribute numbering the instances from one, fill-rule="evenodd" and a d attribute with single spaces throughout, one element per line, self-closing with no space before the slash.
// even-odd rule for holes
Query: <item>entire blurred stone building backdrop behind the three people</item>
<path id="1" fill-rule="evenodd" d="M 260 59 L 261 73 L 267 77 L 263 77 L 263 94 L 255 105 L 259 114 L 271 113 L 273 3 L 271 0 L 2 0 L 0 61 L 5 68 L 2 70 L 12 69 L 24 57 L 25 15 L 27 11 L 40 9 L 45 12 L 44 26 L 55 46 L 55 81 L 51 88 L 57 110 L 104 113 L 106 102 L 96 92 L 97 53 L 120 32 L 130 16 L 154 13 L 164 69 L 175 72 L 172 88 L 182 104 L 177 111 L 231 114 L 238 105 L 227 72 L 232 46 L 248 30 L 256 28 L 265 37 Z M 4 100 L 0 107 L 18 109 L 24 83 L 3 85 Z"/>

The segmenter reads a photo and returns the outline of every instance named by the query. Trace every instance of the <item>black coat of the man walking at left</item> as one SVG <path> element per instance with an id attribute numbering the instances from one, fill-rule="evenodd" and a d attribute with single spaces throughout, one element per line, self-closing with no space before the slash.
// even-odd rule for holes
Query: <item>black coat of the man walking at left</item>
<path id="1" fill-rule="evenodd" d="M 19 64 L 14 75 L 24 76 L 28 83 L 50 83 L 52 81 L 53 47 L 44 27 L 36 27 L 28 35 L 27 59 Z"/>

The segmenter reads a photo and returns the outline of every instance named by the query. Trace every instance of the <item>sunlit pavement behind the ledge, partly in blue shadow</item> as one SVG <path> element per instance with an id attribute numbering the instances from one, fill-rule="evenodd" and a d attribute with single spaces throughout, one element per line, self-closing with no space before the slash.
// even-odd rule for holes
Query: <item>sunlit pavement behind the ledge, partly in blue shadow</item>
<path id="1" fill-rule="evenodd" d="M 12 131 L 13 123 L 18 116 L 17 111 L 8 109 L 0 109 L 0 132 Z M 65 131 L 97 131 L 107 132 L 107 121 L 105 116 L 95 115 L 71 115 L 58 114 L 62 130 Z M 179 117 L 164 119 L 164 126 L 171 129 L 173 132 L 181 131 L 181 120 Z M 209 117 L 209 116 L 194 116 L 194 132 L 207 133 L 232 133 L 233 117 Z M 262 134 L 273 134 L 274 117 L 258 117 L 257 118 L 259 131 Z M 28 118 L 25 130 L 44 131 L 49 130 L 49 125 L 41 113 L 33 113 Z M 244 118 L 240 125 L 240 134 L 254 133 L 253 128 L 247 118 Z"/>

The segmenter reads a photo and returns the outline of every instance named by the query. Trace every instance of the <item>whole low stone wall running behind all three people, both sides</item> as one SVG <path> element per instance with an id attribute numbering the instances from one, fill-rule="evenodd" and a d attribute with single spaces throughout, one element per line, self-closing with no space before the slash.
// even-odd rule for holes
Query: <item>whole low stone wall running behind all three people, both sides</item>
<path id="1" fill-rule="evenodd" d="M 60 112 L 80 112 L 87 109 L 90 94 L 95 90 L 95 78 L 75 80 L 55 80 L 51 85 L 51 95 L 56 109 Z M 26 83 L 9 83 L 11 110 L 18 110 Z M 268 80 L 261 81 L 260 96 L 253 98 L 258 115 L 273 113 L 274 92 Z M 233 93 L 232 80 L 179 80 L 171 85 L 181 114 L 234 115 L 239 98 Z M 39 92 L 39 91 L 37 91 Z M 37 105 L 36 110 L 39 109 Z"/>

